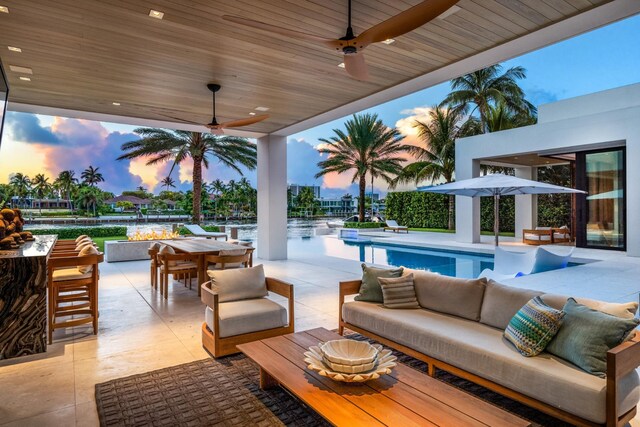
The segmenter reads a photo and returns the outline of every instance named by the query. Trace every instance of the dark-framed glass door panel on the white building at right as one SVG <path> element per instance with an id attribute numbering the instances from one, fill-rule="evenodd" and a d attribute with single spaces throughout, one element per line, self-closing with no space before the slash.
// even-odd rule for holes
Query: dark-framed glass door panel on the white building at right
<path id="1" fill-rule="evenodd" d="M 585 154 L 586 246 L 624 249 L 624 153 Z"/>

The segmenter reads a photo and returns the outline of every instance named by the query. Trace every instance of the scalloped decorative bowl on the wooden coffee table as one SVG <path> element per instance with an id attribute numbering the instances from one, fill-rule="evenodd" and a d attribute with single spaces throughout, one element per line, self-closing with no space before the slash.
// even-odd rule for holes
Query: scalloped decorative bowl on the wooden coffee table
<path id="1" fill-rule="evenodd" d="M 328 360 L 326 354 L 322 351 L 322 344 L 310 347 L 309 351 L 304 353 L 304 360 L 309 364 L 309 369 L 335 381 L 361 383 L 374 380 L 380 378 L 380 375 L 391 373 L 391 369 L 396 366 L 396 357 L 391 354 L 391 350 L 383 350 L 380 345 L 372 346 L 375 350 L 373 360 L 360 363 L 363 358 L 365 361 L 369 358 L 369 356 L 363 356 L 352 359 L 355 362 L 354 364 L 342 364 Z M 332 354 L 332 356 L 335 356 L 335 354 Z M 350 361 L 349 359 L 343 360 Z"/>

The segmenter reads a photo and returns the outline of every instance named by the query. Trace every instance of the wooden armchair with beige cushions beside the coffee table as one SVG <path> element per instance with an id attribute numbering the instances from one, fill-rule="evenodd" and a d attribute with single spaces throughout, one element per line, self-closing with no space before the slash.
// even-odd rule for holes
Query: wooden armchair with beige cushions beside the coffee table
<path id="1" fill-rule="evenodd" d="M 294 332 L 293 285 L 265 277 L 262 265 L 208 272 L 201 298 L 207 305 L 202 346 L 213 357 L 238 353 L 236 346 Z M 287 299 L 287 308 L 267 298 Z"/>

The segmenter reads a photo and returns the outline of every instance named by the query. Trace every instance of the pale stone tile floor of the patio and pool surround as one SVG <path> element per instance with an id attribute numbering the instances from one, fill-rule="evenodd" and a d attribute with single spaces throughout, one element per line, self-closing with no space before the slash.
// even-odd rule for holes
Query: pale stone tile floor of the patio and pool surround
<path id="1" fill-rule="evenodd" d="M 394 244 L 493 250 L 487 236 L 482 244 L 467 245 L 453 241 L 452 234 L 376 234 L 376 240 Z M 508 242 L 513 239 L 504 240 L 509 248 L 524 249 Z M 511 284 L 608 301 L 637 301 L 640 259 L 619 252 L 576 253 L 599 261 L 513 279 Z M 294 284 L 296 330 L 336 328 L 338 282 L 359 278 L 360 262 L 298 249 L 290 250 L 289 256 L 286 261 L 257 259 L 256 263 L 264 263 L 268 276 Z M 96 426 L 95 384 L 210 357 L 202 349 L 204 305 L 195 286 L 190 290 L 175 283 L 164 300 L 149 285 L 148 261 L 104 263 L 100 273 L 97 336 L 85 326 L 58 330 L 47 353 L 0 361 L 0 390 L 11 390 L 2 396 L 0 425 Z M 637 419 L 632 424 L 640 426 Z"/>

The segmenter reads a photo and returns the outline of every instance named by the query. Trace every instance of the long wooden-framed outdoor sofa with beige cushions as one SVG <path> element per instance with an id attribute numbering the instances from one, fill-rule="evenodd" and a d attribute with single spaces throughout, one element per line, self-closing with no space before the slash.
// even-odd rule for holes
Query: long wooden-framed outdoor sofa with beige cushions
<path id="1" fill-rule="evenodd" d="M 636 337 L 607 353 L 607 378 L 543 352 L 520 355 L 503 338 L 510 319 L 531 298 L 561 309 L 562 295 L 465 280 L 405 269 L 413 273 L 420 309 L 388 309 L 380 303 L 345 302 L 361 281 L 340 283 L 339 333 L 350 329 L 436 368 L 466 378 L 511 399 L 575 425 L 623 425 L 640 398 L 640 340 Z M 637 305 L 578 298 L 580 304 L 633 316 Z"/>

